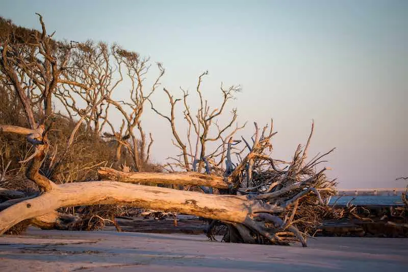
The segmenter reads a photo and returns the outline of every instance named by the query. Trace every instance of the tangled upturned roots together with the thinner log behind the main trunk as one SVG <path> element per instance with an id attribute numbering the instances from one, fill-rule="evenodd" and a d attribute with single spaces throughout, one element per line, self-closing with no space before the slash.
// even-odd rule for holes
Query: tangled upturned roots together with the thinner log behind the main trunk
<path id="1" fill-rule="evenodd" d="M 309 136 L 308 143 L 302 149 L 299 145 L 291 162 L 275 160 L 270 155 L 272 152 L 271 138 L 275 134 L 272 124 L 269 134 L 265 134 L 268 127 L 261 131 L 255 123 L 252 146 L 246 142 L 247 155 L 234 164 L 231 159 L 233 139 L 228 141 L 226 151 L 226 169 L 224 170 L 223 183 L 220 178 L 211 175 L 211 165 L 207 162 L 206 175 L 181 173 L 150 174 L 124 173 L 109 168 L 99 169 L 101 178 L 132 183 L 179 183 L 183 185 L 198 185 L 218 188 L 221 194 L 238 195 L 237 198 L 245 200 L 251 213 L 241 224 L 223 221 L 228 226 L 226 241 L 265 243 L 267 238 L 270 243 L 287 244 L 289 241 L 301 241 L 305 245 L 305 237 L 313 234 L 321 224 L 322 214 L 328 197 L 335 194 L 335 180 L 327 180 L 322 168 L 316 172 L 314 169 L 322 162 L 329 152 L 318 155 L 307 161 L 308 148 L 313 133 Z M 244 149 L 244 150 L 245 150 Z M 240 153 L 236 153 L 240 158 Z M 168 175 L 166 177 L 166 175 Z M 178 177 L 176 175 L 179 175 Z M 160 176 L 160 179 L 158 179 Z M 173 178 L 172 178 L 172 177 Z M 210 217 L 210 214 L 203 215 Z M 214 218 L 218 220 L 217 218 Z M 221 220 L 222 221 L 222 220 Z M 211 227 L 206 232 L 211 235 Z M 233 234 L 231 234 L 233 233 Z"/>

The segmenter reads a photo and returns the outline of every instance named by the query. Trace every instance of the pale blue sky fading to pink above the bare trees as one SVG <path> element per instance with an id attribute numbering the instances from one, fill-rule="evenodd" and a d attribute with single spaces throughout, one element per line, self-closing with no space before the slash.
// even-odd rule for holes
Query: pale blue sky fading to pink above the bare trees
<path id="1" fill-rule="evenodd" d="M 228 109 L 248 123 L 236 137 L 273 118 L 274 158 L 289 160 L 314 119 L 310 157 L 336 147 L 325 165 L 339 188 L 406 185 L 395 179 L 408 176 L 408 1 L 0 3 L 0 16 L 40 29 L 35 12 L 56 39 L 116 42 L 162 62 L 162 87 L 175 97 L 180 86 L 194 91 L 206 70 L 202 91 L 211 105 L 221 82 L 240 84 Z M 122 86 L 115 96 L 126 94 Z M 168 111 L 161 89 L 152 100 Z M 142 121 L 155 138 L 156 162 L 177 154 L 165 119 L 148 110 Z"/>

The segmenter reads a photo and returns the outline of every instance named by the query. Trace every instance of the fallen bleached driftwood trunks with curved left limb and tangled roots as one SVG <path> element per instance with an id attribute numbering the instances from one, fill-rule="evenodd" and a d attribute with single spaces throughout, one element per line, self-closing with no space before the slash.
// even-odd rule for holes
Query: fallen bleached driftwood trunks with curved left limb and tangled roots
<path id="1" fill-rule="evenodd" d="M 31 131 L 27 131 L 29 132 Z M 244 242 L 257 242 L 259 238 L 256 237 L 261 236 L 277 244 L 287 244 L 288 241 L 296 239 L 305 246 L 305 234 L 300 232 L 292 222 L 295 213 L 301 211 L 301 207 L 304 206 L 302 200 L 305 197 L 313 205 L 323 205 L 321 194 L 327 196 L 334 192 L 334 183 L 326 181 L 323 174 L 325 168 L 317 173 L 313 171 L 320 157 L 304 163 L 307 149 L 301 153 L 300 146 L 289 167 L 278 169 L 274 165 L 276 162 L 264 154 L 265 149 L 270 146 L 269 139 L 274 133 L 261 137 L 258 129 L 250 152 L 227 177 L 197 172 L 125 173 L 101 168 L 99 170 L 101 176 L 126 183 L 93 181 L 57 185 L 38 172 L 48 144 L 44 126 L 39 126 L 37 132 L 39 133 L 35 135 L 36 138 L 33 138 L 31 133 L 28 135 L 29 139 L 35 139 L 33 141 L 35 156 L 32 156 L 27 176 L 44 192 L 21 201 L 14 200 L 13 205 L 1 211 L 1 234 L 26 219 L 35 218 L 32 219 L 32 223 L 40 227 L 43 225 L 43 228 L 63 228 L 66 224 L 64 222 L 69 224 L 70 221 L 72 223 L 77 219 L 55 213 L 55 210 L 61 207 L 121 204 L 219 220 L 232 226 Z M 228 164 L 234 165 L 232 162 Z M 225 188 L 238 195 L 205 194 L 129 184 L 129 182 L 211 186 Z M 296 219 L 299 220 L 299 218 Z M 288 232 L 291 235 L 288 236 Z M 279 234 L 284 235 L 279 236 Z"/>

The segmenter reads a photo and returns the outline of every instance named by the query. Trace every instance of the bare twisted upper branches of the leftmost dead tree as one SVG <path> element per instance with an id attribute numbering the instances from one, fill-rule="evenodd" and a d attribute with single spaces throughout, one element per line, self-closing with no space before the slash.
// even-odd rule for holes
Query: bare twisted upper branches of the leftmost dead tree
<path id="1" fill-rule="evenodd" d="M 32 105 L 45 122 L 53 113 L 52 99 L 59 84 L 70 84 L 88 89 L 81 82 L 61 77 L 69 69 L 72 45 L 57 42 L 48 35 L 42 16 L 39 16 L 41 32 L 16 27 L 1 18 L 2 36 L 0 68 L 11 87 L 22 101 L 25 116 L 31 129 L 36 129 Z"/>

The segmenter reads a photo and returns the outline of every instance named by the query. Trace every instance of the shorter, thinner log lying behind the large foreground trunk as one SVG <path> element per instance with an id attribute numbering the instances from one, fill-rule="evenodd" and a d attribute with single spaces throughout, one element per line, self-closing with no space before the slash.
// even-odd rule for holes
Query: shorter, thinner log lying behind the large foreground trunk
<path id="1" fill-rule="evenodd" d="M 216 175 L 206 175 L 198 172 L 122 172 L 108 167 L 98 170 L 101 179 L 128 182 L 128 183 L 155 183 L 208 186 L 218 189 L 228 189 L 232 186 L 231 178 L 224 179 Z"/>

